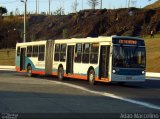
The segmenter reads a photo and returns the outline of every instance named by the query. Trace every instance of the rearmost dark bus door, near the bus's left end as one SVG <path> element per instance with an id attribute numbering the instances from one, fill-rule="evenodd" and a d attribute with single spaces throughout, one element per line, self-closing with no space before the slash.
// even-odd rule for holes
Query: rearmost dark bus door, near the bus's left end
<path id="1" fill-rule="evenodd" d="M 26 48 L 21 48 L 20 54 L 20 71 L 25 70 Z"/>

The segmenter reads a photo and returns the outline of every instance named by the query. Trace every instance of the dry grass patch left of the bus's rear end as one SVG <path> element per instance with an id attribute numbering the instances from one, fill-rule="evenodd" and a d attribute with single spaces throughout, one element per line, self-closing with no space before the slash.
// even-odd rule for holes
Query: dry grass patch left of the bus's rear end
<path id="1" fill-rule="evenodd" d="M 0 49 L 0 65 L 15 65 L 15 49 Z"/>

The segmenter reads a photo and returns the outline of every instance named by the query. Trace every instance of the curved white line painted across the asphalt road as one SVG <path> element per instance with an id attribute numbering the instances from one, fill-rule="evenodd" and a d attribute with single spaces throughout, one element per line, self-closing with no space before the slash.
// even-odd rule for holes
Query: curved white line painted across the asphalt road
<path id="1" fill-rule="evenodd" d="M 81 86 L 74 85 L 74 84 L 68 84 L 68 83 L 58 82 L 58 81 L 55 81 L 55 82 L 57 84 L 61 84 L 61 85 L 69 86 L 69 87 L 72 87 L 72 88 L 80 89 L 80 90 L 83 90 L 83 91 L 87 91 L 89 93 L 98 94 L 98 95 L 102 95 L 102 96 L 105 96 L 105 97 L 111 97 L 111 98 L 114 98 L 114 99 L 119 99 L 119 100 L 130 102 L 130 103 L 133 103 L 133 104 L 141 105 L 141 106 L 144 106 L 144 107 L 147 107 L 147 108 L 160 110 L 160 106 L 150 104 L 150 103 L 147 103 L 147 102 L 142 102 L 142 101 L 138 101 L 138 100 L 123 98 L 123 97 L 120 97 L 120 96 L 116 96 L 115 94 L 112 94 L 112 93 L 92 91 L 92 90 L 89 90 L 85 87 L 81 87 Z"/>

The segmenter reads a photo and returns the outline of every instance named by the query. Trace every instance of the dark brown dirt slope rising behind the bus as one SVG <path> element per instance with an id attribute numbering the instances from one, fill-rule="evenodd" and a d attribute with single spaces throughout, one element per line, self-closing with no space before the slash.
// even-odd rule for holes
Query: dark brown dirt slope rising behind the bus
<path id="1" fill-rule="evenodd" d="M 7 19 L 7 20 L 6 20 Z M 63 16 L 28 16 L 27 41 L 111 35 L 144 36 L 160 31 L 160 9 L 84 10 Z M 16 29 L 16 30 L 14 30 Z M 8 42 L 11 42 L 8 44 Z M 23 41 L 23 17 L 0 18 L 0 48 Z"/>

